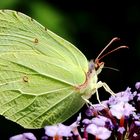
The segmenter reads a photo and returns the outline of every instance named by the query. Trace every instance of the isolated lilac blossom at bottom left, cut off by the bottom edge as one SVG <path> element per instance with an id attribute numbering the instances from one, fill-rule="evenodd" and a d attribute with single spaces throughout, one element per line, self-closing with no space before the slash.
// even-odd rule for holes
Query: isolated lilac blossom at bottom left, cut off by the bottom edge
<path id="1" fill-rule="evenodd" d="M 32 133 L 23 133 L 11 137 L 9 140 L 37 140 Z"/>

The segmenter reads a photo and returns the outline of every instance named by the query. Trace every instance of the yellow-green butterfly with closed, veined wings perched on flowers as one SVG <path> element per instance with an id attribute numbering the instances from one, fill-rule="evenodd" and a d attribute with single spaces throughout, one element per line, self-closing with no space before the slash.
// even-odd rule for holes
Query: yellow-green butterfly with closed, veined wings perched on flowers
<path id="1" fill-rule="evenodd" d="M 0 114 L 6 118 L 25 128 L 64 122 L 99 87 L 113 94 L 97 80 L 102 67 L 32 18 L 0 10 Z"/>

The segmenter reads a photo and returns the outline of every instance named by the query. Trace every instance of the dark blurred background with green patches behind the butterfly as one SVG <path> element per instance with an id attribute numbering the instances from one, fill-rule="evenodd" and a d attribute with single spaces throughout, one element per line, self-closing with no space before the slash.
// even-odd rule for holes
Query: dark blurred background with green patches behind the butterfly
<path id="1" fill-rule="evenodd" d="M 134 88 L 140 80 L 139 2 L 1 0 L 0 9 L 17 10 L 36 19 L 73 43 L 88 60 L 95 59 L 113 37 L 119 37 L 121 40 L 114 42 L 112 49 L 120 45 L 127 45 L 129 49 L 119 50 L 103 59 L 107 67 L 117 68 L 119 72 L 104 69 L 99 79 L 105 81 L 114 92 L 125 90 L 128 86 Z M 101 100 L 108 98 L 108 94 L 102 90 L 100 92 Z M 93 96 L 91 100 L 94 102 L 96 97 Z M 24 130 L 20 126 L 13 127 L 15 124 L 7 123 L 3 117 L 0 124 L 8 125 L 0 125 L 0 136 L 6 134 L 8 137 Z"/>

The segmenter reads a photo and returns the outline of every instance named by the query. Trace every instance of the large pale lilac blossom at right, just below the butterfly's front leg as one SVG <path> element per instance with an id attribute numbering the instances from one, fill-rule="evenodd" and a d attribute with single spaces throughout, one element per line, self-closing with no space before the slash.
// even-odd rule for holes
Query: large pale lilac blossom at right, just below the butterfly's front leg
<path id="1" fill-rule="evenodd" d="M 117 117 L 117 119 L 121 119 L 122 116 L 129 116 L 130 114 L 134 114 L 134 111 L 136 111 L 136 109 L 131 104 L 124 102 L 111 105 L 110 107 L 110 112 L 113 116 Z"/>

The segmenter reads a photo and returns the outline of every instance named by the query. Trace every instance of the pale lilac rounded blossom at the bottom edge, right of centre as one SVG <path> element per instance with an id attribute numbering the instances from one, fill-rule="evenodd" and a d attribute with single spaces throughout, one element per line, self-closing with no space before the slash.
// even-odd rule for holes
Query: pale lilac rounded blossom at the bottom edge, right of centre
<path id="1" fill-rule="evenodd" d="M 105 127 L 98 127 L 95 124 L 90 124 L 87 126 L 86 131 L 99 139 L 108 139 L 111 135 L 111 131 L 109 131 Z"/>

